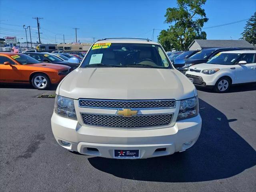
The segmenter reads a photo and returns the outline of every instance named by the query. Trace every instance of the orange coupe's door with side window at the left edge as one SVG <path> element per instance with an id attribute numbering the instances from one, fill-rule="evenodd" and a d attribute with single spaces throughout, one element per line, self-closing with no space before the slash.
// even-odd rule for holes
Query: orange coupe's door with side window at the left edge
<path id="1" fill-rule="evenodd" d="M 4 65 L 10 62 L 11 65 Z M 20 67 L 7 56 L 0 56 L 0 82 L 17 82 L 21 78 Z"/>

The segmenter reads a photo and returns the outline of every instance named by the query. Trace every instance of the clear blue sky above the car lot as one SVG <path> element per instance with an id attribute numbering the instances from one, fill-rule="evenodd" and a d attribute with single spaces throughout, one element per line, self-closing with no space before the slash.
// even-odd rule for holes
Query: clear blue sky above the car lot
<path id="1" fill-rule="evenodd" d="M 58 43 L 75 41 L 74 27 L 80 42 L 111 37 L 152 38 L 153 28 L 167 29 L 166 8 L 176 0 L 0 0 L 0 38 L 17 36 L 26 39 L 23 25 L 31 26 L 32 41 L 38 41 L 36 20 L 42 17 L 41 41 Z M 250 18 L 256 11 L 256 0 L 207 0 L 203 7 L 209 21 L 204 27 Z M 207 39 L 238 39 L 246 22 L 204 29 Z M 157 40 L 159 30 L 155 31 Z"/>

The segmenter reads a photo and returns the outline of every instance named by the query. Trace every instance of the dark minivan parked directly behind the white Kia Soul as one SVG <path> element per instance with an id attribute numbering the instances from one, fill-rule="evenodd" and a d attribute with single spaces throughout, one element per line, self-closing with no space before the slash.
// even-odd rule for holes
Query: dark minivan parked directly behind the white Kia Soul
<path id="1" fill-rule="evenodd" d="M 178 68 L 181 72 L 185 73 L 188 70 L 188 67 L 200 63 L 206 63 L 208 60 L 210 60 L 213 56 L 215 56 L 217 53 L 222 51 L 234 51 L 234 50 L 242 50 L 240 48 L 208 48 L 203 49 L 201 51 L 196 52 L 196 54 L 190 56 L 189 58 L 182 59 L 185 61 L 185 65 L 180 64 L 180 60 L 176 58 L 174 62 L 174 67 Z"/>

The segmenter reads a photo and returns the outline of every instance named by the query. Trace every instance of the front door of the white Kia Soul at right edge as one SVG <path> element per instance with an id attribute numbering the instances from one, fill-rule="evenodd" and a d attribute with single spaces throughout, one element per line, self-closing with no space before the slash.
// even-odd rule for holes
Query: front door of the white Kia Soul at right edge
<path id="1" fill-rule="evenodd" d="M 246 64 L 239 64 L 246 61 Z M 244 53 L 236 62 L 235 83 L 256 82 L 256 54 Z"/>

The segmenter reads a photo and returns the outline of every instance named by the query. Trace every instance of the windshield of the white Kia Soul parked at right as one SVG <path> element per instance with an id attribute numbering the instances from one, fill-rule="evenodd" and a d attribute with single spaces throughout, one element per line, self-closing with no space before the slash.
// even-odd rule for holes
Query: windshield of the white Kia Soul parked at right
<path id="1" fill-rule="evenodd" d="M 219 65 L 233 65 L 241 54 L 237 53 L 218 53 L 207 63 Z"/>

